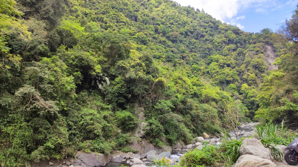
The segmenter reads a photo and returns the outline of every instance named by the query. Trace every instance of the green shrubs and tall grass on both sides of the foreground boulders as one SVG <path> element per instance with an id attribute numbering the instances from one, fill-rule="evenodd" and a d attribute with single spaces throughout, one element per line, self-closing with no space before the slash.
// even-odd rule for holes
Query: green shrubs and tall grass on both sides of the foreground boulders
<path id="1" fill-rule="evenodd" d="M 298 136 L 297 130 L 291 130 L 288 127 L 284 121 L 280 124 L 268 121 L 265 124 L 257 125 L 257 130 L 250 138 L 260 139 L 263 146 L 270 149 L 274 160 L 283 161 L 284 152 L 280 145 L 288 146 Z M 227 137 L 223 136 L 222 138 Z M 202 149 L 187 152 L 181 158 L 179 166 L 232 166 L 240 157 L 239 150 L 243 140 L 244 138 L 223 140 L 219 146 L 204 144 Z"/>

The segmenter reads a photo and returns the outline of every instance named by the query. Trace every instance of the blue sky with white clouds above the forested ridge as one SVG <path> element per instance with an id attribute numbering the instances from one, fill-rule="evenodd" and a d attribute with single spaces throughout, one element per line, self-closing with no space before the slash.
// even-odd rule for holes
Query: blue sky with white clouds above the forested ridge
<path id="1" fill-rule="evenodd" d="M 222 22 L 238 26 L 246 32 L 264 28 L 275 32 L 279 24 L 290 19 L 298 0 L 173 0 L 182 6 L 204 9 Z"/>

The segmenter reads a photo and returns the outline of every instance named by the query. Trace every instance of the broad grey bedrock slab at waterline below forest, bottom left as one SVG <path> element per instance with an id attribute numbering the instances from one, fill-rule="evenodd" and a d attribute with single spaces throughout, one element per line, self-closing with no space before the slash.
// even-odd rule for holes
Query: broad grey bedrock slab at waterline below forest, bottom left
<path id="1" fill-rule="evenodd" d="M 106 163 L 111 161 L 111 155 L 97 154 L 94 152 L 84 153 L 79 151 L 77 152 L 76 157 L 77 160 L 75 160 L 75 166 L 82 167 L 105 166 Z M 81 164 L 79 164 L 78 162 L 80 162 Z"/>

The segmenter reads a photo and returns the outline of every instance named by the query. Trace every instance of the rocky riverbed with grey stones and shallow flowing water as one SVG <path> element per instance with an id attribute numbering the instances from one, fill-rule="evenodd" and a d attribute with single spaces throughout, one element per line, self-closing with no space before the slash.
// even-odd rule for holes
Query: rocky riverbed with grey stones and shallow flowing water
<path id="1" fill-rule="evenodd" d="M 255 131 L 255 126 L 257 123 L 242 124 L 238 127 L 237 138 L 248 137 Z M 230 138 L 236 138 L 234 132 L 229 132 Z M 37 166 L 47 166 L 47 167 L 117 167 L 121 165 L 133 166 L 133 167 L 145 167 L 145 166 L 155 166 L 153 160 L 167 158 L 170 164 L 176 164 L 179 162 L 181 156 L 189 150 L 192 149 L 202 149 L 203 142 L 219 145 L 221 144 L 221 138 L 203 138 L 201 136 L 194 138 L 192 144 L 184 145 L 178 142 L 173 147 L 154 147 L 152 144 L 148 143 L 145 139 L 141 142 L 132 141 L 131 147 L 138 149 L 137 154 L 132 152 L 122 153 L 117 152 L 113 155 L 103 155 L 97 153 L 83 153 L 77 152 L 76 158 L 69 158 L 62 161 L 51 160 L 48 163 L 41 162 L 39 164 L 32 164 L 32 167 Z"/>

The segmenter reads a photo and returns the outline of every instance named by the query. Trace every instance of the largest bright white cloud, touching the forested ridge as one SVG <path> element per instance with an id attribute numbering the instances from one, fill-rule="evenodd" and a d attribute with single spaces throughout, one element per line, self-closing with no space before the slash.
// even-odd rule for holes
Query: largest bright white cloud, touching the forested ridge
<path id="1" fill-rule="evenodd" d="M 182 6 L 192 6 L 195 9 L 204 9 L 212 17 L 222 22 L 231 23 L 240 29 L 244 27 L 237 22 L 245 16 L 237 16 L 238 12 L 254 9 L 254 11 L 264 12 L 269 7 L 277 6 L 277 0 L 174 0 Z M 290 0 L 298 1 L 298 0 Z"/>

